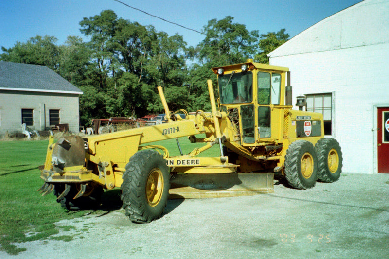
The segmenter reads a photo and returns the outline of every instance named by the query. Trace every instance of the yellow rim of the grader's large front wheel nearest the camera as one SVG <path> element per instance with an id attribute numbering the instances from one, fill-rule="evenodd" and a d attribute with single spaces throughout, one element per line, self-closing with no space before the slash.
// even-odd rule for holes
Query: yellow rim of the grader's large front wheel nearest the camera
<path id="1" fill-rule="evenodd" d="M 162 197 L 163 191 L 163 176 L 158 168 L 154 168 L 149 173 L 146 183 L 147 203 L 151 207 L 157 206 Z"/>

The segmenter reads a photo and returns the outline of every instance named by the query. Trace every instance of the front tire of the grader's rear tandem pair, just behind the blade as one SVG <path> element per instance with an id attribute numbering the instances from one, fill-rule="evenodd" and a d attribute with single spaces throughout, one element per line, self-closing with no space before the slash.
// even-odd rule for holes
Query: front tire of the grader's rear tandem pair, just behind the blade
<path id="1" fill-rule="evenodd" d="M 306 140 L 289 145 L 285 155 L 286 180 L 296 189 L 309 189 L 318 179 L 318 156 L 315 147 Z"/>

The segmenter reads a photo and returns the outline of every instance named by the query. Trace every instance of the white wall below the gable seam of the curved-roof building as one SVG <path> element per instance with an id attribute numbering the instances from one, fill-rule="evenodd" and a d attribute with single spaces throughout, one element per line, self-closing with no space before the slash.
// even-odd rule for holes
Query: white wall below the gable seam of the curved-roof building
<path id="1" fill-rule="evenodd" d="M 376 62 L 383 53 L 389 60 L 389 44 L 277 57 L 271 62 L 289 67 L 294 104 L 300 94 L 335 92 L 334 137 L 342 147 L 343 172 L 377 170 L 373 155 L 377 137 L 371 131 L 377 128 L 374 105 L 389 106 L 388 67 Z"/>

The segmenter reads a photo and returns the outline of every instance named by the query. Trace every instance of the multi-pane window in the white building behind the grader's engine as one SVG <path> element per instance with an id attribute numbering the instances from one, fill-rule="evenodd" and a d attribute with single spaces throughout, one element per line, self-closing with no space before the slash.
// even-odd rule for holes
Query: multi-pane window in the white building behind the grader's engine
<path id="1" fill-rule="evenodd" d="M 324 135 L 332 135 L 332 93 L 306 94 L 307 111 L 323 115 Z"/>

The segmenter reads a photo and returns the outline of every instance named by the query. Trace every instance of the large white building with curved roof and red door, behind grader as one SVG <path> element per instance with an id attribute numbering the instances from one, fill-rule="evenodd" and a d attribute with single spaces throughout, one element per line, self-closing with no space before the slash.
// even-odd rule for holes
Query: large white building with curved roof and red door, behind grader
<path id="1" fill-rule="evenodd" d="M 293 100 L 322 112 L 343 152 L 343 172 L 389 173 L 389 0 L 365 0 L 269 54 L 289 67 Z"/>

